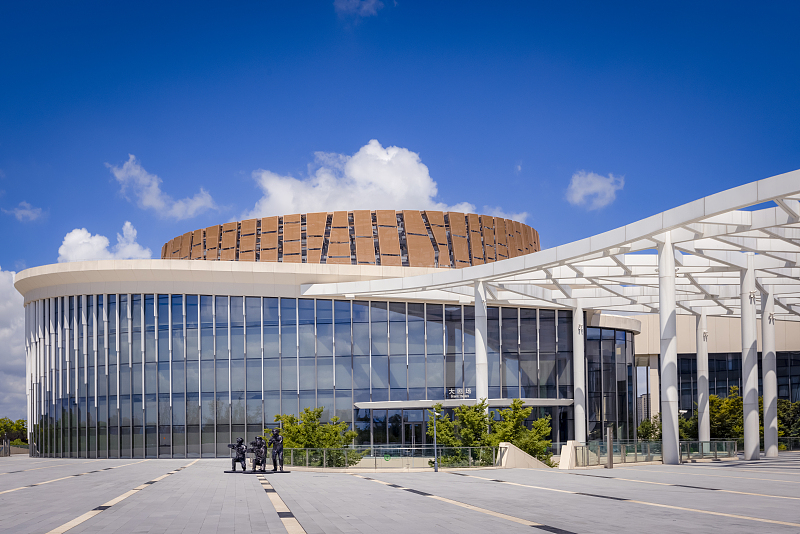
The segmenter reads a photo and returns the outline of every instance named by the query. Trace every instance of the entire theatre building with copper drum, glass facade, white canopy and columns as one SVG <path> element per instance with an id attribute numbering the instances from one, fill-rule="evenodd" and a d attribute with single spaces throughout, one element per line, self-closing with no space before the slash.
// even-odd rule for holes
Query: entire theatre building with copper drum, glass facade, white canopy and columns
<path id="1" fill-rule="evenodd" d="M 776 331 L 778 351 L 800 349 L 798 221 L 795 171 L 547 250 L 514 221 L 378 210 L 213 226 L 158 260 L 34 267 L 15 280 L 32 439 L 54 456 L 227 457 L 275 414 L 323 406 L 358 444 L 414 445 L 434 403 L 481 398 L 549 415 L 556 447 L 607 427 L 635 439 L 635 366 L 652 364 L 675 463 L 681 343 L 697 340 L 707 414 L 709 339 L 734 331 L 721 316 L 739 325 L 752 458 L 759 313 L 765 407 Z"/>

